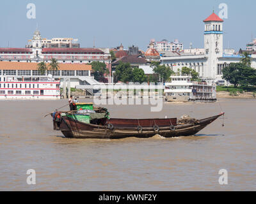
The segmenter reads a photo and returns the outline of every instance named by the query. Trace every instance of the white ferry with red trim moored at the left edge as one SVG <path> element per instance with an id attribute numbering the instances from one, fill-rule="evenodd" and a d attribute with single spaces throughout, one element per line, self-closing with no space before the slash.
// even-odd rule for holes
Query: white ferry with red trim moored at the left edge
<path id="1" fill-rule="evenodd" d="M 0 99 L 60 99 L 60 80 L 0 75 Z"/>

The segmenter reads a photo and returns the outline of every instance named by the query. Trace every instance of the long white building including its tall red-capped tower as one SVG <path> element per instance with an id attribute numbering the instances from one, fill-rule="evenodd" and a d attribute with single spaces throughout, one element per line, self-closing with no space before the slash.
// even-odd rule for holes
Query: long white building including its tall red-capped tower
<path id="1" fill-rule="evenodd" d="M 234 54 L 233 50 L 223 50 L 223 20 L 212 13 L 204 20 L 204 50 L 205 53 L 173 53 L 160 58 L 162 64 L 178 71 L 187 66 L 195 69 L 200 77 L 207 82 L 222 79 L 222 69 L 231 62 L 240 62 L 242 56 Z M 252 67 L 256 68 L 256 55 L 252 54 Z"/>

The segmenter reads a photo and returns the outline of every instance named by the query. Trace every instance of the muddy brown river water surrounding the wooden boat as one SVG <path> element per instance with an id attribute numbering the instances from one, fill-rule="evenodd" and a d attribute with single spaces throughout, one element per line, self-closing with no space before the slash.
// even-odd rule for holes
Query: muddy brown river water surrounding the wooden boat
<path id="1" fill-rule="evenodd" d="M 84 100 L 85 101 L 85 100 Z M 0 101 L 0 191 L 255 191 L 256 100 L 106 106 L 111 117 L 204 118 L 225 115 L 198 135 L 179 138 L 62 138 L 44 115 L 61 101 Z M 66 108 L 67 109 L 67 108 Z M 65 110 L 63 108 L 62 110 Z M 36 185 L 26 182 L 36 171 Z M 219 171 L 228 171 L 228 185 Z"/>

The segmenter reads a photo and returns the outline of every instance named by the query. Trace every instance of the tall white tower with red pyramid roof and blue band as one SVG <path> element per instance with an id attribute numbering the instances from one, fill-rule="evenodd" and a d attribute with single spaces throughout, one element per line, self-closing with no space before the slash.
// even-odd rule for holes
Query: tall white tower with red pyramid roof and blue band
<path id="1" fill-rule="evenodd" d="M 204 23 L 204 48 L 207 57 L 205 77 L 216 78 L 218 57 L 223 56 L 223 20 L 213 12 Z"/>

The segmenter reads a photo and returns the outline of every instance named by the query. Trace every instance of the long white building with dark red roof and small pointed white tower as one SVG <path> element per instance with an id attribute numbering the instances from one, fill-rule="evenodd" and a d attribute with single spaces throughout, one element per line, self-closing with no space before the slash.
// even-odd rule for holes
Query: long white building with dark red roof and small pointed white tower
<path id="1" fill-rule="evenodd" d="M 65 38 L 55 38 L 63 43 Z M 70 39 L 71 40 L 71 39 Z M 1 62 L 50 62 L 52 58 L 61 64 L 88 64 L 94 61 L 104 62 L 111 73 L 111 55 L 109 48 L 45 48 L 40 31 L 33 34 L 31 43 L 26 48 L 0 48 Z M 47 42 L 46 42 L 47 43 Z M 61 45 L 60 43 L 60 45 Z M 67 41 L 67 44 L 70 41 Z M 51 43 L 50 43 L 51 44 Z M 86 70 L 84 70 L 86 71 Z M 110 79 L 109 79 L 110 80 Z"/>

